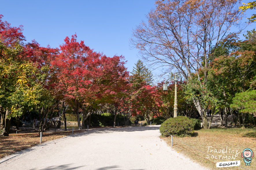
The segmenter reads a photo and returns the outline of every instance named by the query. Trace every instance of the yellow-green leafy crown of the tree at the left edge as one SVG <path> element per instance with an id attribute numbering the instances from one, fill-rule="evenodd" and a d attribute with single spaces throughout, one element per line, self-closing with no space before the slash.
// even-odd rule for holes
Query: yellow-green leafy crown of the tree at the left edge
<path id="1" fill-rule="evenodd" d="M 21 116 L 24 110 L 44 105 L 52 98 L 45 88 L 49 67 L 38 68 L 20 58 L 23 48 L 19 43 L 6 46 L 0 42 L 0 107 L 11 110 L 8 117 Z"/>

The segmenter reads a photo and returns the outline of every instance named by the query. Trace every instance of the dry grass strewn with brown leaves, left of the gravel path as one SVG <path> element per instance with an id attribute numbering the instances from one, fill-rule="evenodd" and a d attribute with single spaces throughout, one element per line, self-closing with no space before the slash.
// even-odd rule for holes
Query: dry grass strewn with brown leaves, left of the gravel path
<path id="1" fill-rule="evenodd" d="M 74 130 L 75 133 L 81 133 L 84 130 Z M 62 131 L 53 133 L 43 133 L 42 143 L 60 139 L 64 136 L 71 135 L 72 131 Z M 8 137 L 0 137 L 0 159 L 14 154 L 15 152 L 30 148 L 40 143 L 38 133 L 11 133 Z"/>

